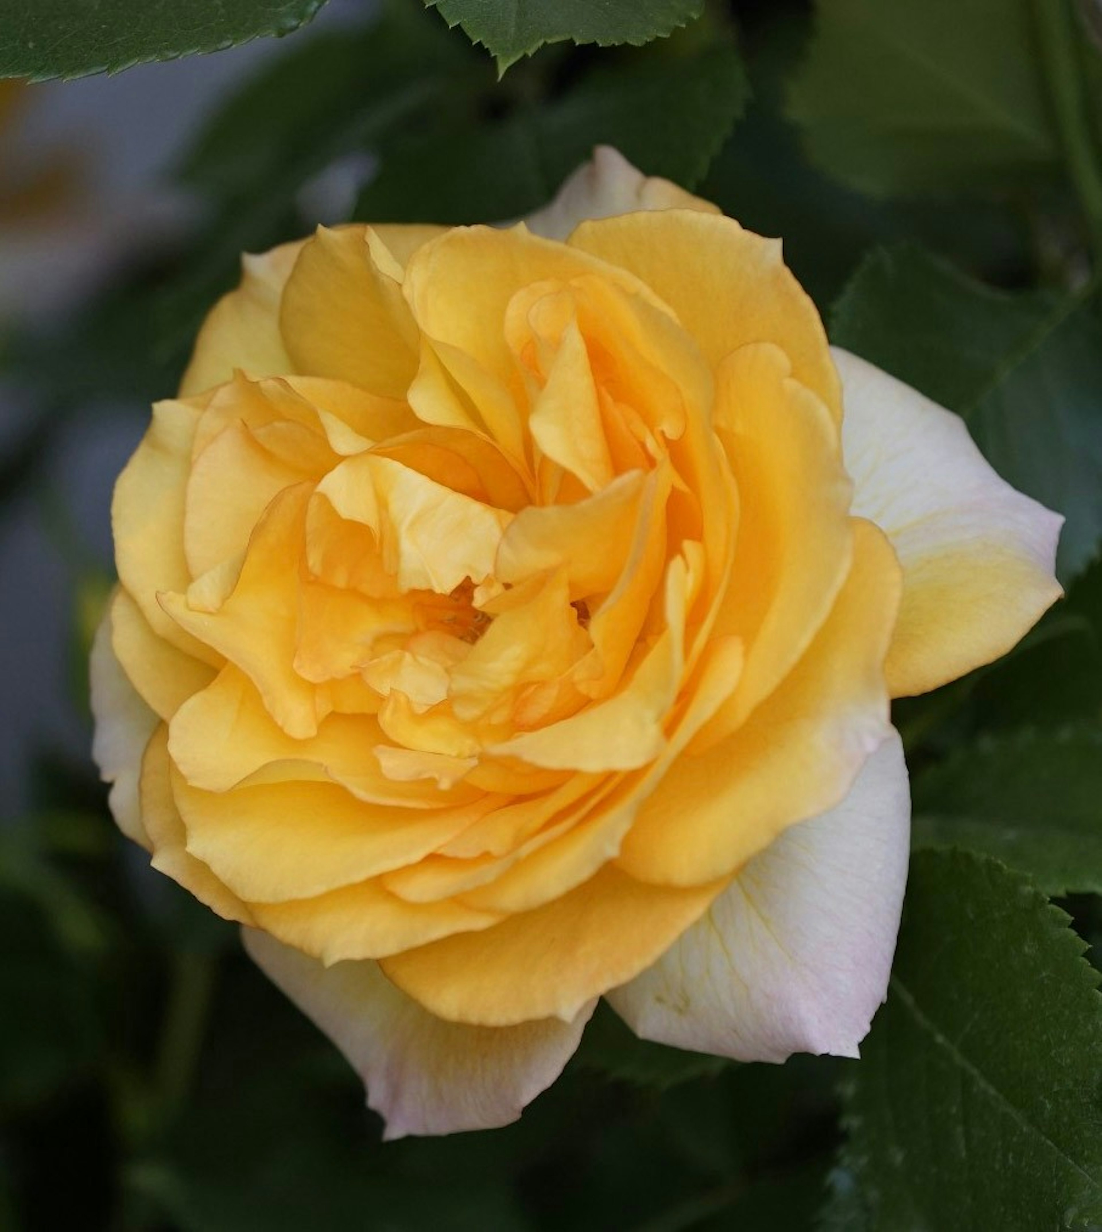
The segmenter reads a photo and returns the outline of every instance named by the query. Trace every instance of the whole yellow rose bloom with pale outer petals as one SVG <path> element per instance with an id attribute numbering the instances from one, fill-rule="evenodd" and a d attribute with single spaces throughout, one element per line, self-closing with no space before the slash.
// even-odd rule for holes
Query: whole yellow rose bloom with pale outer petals
<path id="1" fill-rule="evenodd" d="M 391 1137 L 514 1120 L 599 997 L 857 1056 L 889 702 L 1033 625 L 1059 522 L 777 240 L 600 149 L 526 225 L 245 257 L 116 488 L 95 753 Z"/>

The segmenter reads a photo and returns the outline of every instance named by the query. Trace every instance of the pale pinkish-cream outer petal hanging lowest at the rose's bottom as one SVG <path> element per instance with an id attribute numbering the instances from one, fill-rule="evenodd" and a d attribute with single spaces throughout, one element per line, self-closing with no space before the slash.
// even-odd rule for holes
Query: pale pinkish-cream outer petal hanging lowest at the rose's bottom
<path id="1" fill-rule="evenodd" d="M 254 962 L 364 1078 L 387 1138 L 515 1121 L 562 1072 L 595 1004 L 571 1023 L 445 1023 L 396 988 L 376 962 L 324 967 L 265 933 L 244 929 L 243 938 Z"/>

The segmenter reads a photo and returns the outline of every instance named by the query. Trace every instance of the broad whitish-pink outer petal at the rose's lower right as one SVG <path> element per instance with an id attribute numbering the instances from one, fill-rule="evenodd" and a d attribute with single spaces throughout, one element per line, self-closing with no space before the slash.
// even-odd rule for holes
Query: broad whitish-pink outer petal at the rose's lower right
<path id="1" fill-rule="evenodd" d="M 910 817 L 892 731 L 841 804 L 751 860 L 610 1004 L 643 1039 L 737 1061 L 855 1057 L 888 989 Z"/>

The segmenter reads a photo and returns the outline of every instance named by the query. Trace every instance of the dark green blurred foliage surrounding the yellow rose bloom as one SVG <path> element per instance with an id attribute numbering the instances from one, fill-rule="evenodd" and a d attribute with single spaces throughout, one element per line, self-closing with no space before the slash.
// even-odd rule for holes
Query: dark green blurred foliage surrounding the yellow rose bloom
<path id="1" fill-rule="evenodd" d="M 213 51 L 320 7 L 0 0 L 0 74 Z M 0 83 L 0 1228 L 1102 1226 L 1100 30 L 1095 0 L 333 0 L 226 53 L 152 211 L 148 184 L 97 203 L 79 137 L 36 140 L 36 91 L 69 87 Z M 169 69 L 138 71 L 170 91 Z M 863 1061 L 736 1066 L 602 1011 L 519 1124 L 381 1143 L 234 929 L 106 812 L 84 753 L 106 494 L 242 251 L 514 218 L 600 142 L 784 237 L 835 341 L 1067 516 L 1067 599 L 897 707 L 918 853 Z M 65 713 L 43 718 L 53 676 Z"/>

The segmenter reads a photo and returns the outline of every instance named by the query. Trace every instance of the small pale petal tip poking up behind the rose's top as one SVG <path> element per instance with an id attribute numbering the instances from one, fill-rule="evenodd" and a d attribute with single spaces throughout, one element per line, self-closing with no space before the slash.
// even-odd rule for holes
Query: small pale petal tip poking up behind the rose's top
<path id="1" fill-rule="evenodd" d="M 669 180 L 646 176 L 611 145 L 598 145 L 593 158 L 566 180 L 555 198 L 529 214 L 528 229 L 545 239 L 566 239 L 588 218 L 610 218 L 636 209 L 720 209 L 703 197 L 694 197 Z"/>

